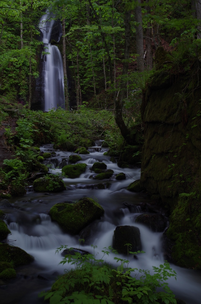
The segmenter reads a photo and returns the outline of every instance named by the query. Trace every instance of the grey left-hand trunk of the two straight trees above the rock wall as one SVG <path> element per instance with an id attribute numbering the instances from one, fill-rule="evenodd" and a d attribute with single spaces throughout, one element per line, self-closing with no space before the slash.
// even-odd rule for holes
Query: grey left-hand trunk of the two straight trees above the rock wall
<path id="1" fill-rule="evenodd" d="M 144 71 L 144 46 L 143 46 L 143 29 L 142 29 L 142 9 L 141 0 L 136 1 L 135 21 L 138 22 L 136 26 L 136 51 L 139 55 L 137 57 L 137 69 L 139 72 Z"/>

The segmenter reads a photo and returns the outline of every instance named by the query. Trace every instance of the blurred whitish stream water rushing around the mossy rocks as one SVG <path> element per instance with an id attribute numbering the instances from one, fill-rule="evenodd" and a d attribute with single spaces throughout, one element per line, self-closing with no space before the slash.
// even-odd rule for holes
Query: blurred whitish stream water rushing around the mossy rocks
<path id="1" fill-rule="evenodd" d="M 19 246 L 34 256 L 35 261 L 28 265 L 17 268 L 17 278 L 8 285 L 0 286 L 1 303 L 12 304 L 34 304 L 42 303 L 38 299 L 38 293 L 42 290 L 48 290 L 56 276 L 62 274 L 64 268 L 68 267 L 59 264 L 62 260 L 61 254 L 55 254 L 55 250 L 60 245 L 69 247 L 79 246 L 79 236 L 70 236 L 60 229 L 57 223 L 51 222 L 48 215 L 49 209 L 58 202 L 75 201 L 83 196 L 96 198 L 104 208 L 104 216 L 96 221 L 91 236 L 90 243 L 80 246 L 81 249 L 92 252 L 90 244 L 97 245 L 96 253 L 101 253 L 104 247 L 112 245 L 112 237 L 116 226 L 133 225 L 140 229 L 141 242 L 145 254 L 140 254 L 138 260 L 132 260 L 132 268 L 152 269 L 152 266 L 159 266 L 164 262 L 163 252 L 161 249 L 162 233 L 154 233 L 146 227 L 136 224 L 135 218 L 141 214 L 139 207 L 134 208 L 131 213 L 123 204 L 139 204 L 148 202 L 146 197 L 138 193 L 129 192 L 126 187 L 140 178 L 139 168 L 118 168 L 117 164 L 112 163 L 110 157 L 104 156 L 106 148 L 99 147 L 89 148 L 90 154 L 81 155 L 82 161 L 86 163 L 86 172 L 79 178 L 64 178 L 66 191 L 60 193 L 36 193 L 31 191 L 27 195 L 11 200 L 13 208 L 6 209 L 6 222 L 12 235 L 9 236 L 8 242 Z M 51 152 L 52 145 L 44 145 L 42 151 Z M 68 164 L 70 152 L 56 150 L 56 155 L 46 160 L 45 164 L 51 164 L 52 173 L 60 171 L 64 165 Z M 126 179 L 117 181 L 111 179 L 111 185 L 105 189 L 94 189 L 98 182 L 89 177 L 94 174 L 90 167 L 96 161 L 103 161 L 107 164 L 107 169 L 114 170 L 114 174 L 124 172 Z M 57 168 L 59 167 L 59 168 Z M 114 177 L 113 177 L 114 178 Z M 100 254 L 98 255 L 101 256 Z M 113 261 L 114 254 L 107 257 L 107 261 Z M 116 263 L 116 262 L 115 262 Z M 186 301 L 187 304 L 199 304 L 201 296 L 201 275 L 200 271 L 192 271 L 171 265 L 177 272 L 177 281 L 174 278 L 169 280 L 170 287 L 176 296 Z"/>

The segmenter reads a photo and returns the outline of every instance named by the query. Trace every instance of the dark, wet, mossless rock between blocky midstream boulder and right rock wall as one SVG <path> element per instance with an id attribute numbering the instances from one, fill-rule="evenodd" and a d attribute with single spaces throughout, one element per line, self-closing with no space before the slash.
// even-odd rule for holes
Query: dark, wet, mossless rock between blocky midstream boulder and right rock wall
<path id="1" fill-rule="evenodd" d="M 154 232 L 162 232 L 167 227 L 167 220 L 162 214 L 141 214 L 135 223 L 143 224 Z"/>

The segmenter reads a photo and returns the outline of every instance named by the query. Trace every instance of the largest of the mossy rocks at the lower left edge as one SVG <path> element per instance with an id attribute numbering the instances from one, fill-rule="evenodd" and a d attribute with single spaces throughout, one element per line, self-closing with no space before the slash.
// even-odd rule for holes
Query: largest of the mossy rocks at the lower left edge
<path id="1" fill-rule="evenodd" d="M 13 263 L 14 267 L 26 265 L 34 261 L 34 258 L 19 247 L 9 244 L 0 244 L 0 260 Z"/>

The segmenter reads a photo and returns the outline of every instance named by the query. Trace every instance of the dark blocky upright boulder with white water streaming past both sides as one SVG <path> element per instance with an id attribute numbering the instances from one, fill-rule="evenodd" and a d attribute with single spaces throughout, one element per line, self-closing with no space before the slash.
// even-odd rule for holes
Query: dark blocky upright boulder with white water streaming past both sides
<path id="1" fill-rule="evenodd" d="M 113 248 L 121 254 L 128 253 L 128 247 L 125 244 L 131 244 L 129 251 L 136 252 L 142 250 L 140 230 L 135 226 L 117 226 L 114 230 Z"/>

